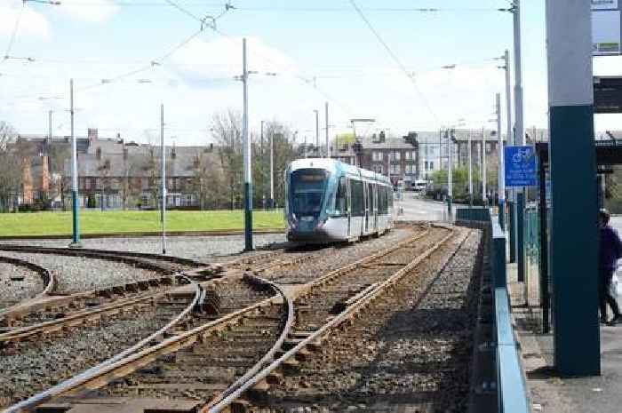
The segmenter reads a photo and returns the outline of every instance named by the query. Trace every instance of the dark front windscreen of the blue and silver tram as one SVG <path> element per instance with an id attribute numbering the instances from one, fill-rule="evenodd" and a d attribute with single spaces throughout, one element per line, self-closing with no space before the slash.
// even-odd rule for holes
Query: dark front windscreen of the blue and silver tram
<path id="1" fill-rule="evenodd" d="M 299 170 L 291 173 L 291 212 L 297 217 L 320 216 L 328 173 L 319 170 Z"/>

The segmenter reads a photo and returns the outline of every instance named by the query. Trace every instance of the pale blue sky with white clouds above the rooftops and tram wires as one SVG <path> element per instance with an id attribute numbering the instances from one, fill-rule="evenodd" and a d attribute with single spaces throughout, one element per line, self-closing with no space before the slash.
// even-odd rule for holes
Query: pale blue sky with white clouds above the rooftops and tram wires
<path id="1" fill-rule="evenodd" d="M 353 118 L 375 119 L 357 132 L 397 136 L 458 124 L 492 128 L 496 92 L 505 105 L 495 58 L 508 49 L 514 60 L 512 15 L 498 11 L 506 0 L 230 4 L 226 11 L 219 0 L 0 0 L 0 53 L 11 57 L 0 63 L 0 120 L 43 134 L 52 110 L 53 133 L 68 135 L 73 78 L 78 135 L 92 127 L 144 142 L 159 133 L 163 104 L 168 142 L 206 144 L 214 114 L 242 110 L 235 75 L 243 37 L 248 68 L 257 72 L 248 85 L 252 131 L 278 120 L 312 141 L 314 110 L 323 128 L 326 101 L 331 135 L 349 131 Z M 429 8 L 438 10 L 420 10 Z M 522 0 L 527 128 L 547 123 L 545 34 L 545 2 Z M 620 63 L 598 58 L 594 73 L 619 74 Z M 598 115 L 596 129 L 622 129 L 621 119 Z"/>

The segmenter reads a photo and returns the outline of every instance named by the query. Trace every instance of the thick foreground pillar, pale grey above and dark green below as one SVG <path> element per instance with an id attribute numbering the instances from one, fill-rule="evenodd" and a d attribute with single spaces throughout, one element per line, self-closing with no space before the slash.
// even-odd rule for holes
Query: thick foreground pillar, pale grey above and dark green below
<path id="1" fill-rule="evenodd" d="M 554 364 L 562 376 L 593 376 L 601 348 L 590 2 L 546 5 Z"/>

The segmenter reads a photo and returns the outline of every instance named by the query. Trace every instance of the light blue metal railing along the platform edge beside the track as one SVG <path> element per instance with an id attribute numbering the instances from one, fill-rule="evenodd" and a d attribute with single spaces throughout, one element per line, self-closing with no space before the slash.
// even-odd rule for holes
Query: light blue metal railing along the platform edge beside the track
<path id="1" fill-rule="evenodd" d="M 530 413 L 529 393 L 522 374 L 521 355 L 514 338 L 506 280 L 506 232 L 490 219 L 491 264 L 494 289 L 494 338 L 497 344 L 497 400 L 499 413 Z"/>

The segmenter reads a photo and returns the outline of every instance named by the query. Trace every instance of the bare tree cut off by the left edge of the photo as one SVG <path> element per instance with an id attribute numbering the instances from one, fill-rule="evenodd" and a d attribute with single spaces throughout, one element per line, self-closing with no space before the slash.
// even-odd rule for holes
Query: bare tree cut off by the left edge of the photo
<path id="1" fill-rule="evenodd" d="M 0 121 L 0 212 L 7 212 L 19 193 L 22 156 L 16 137 L 12 126 Z"/>

